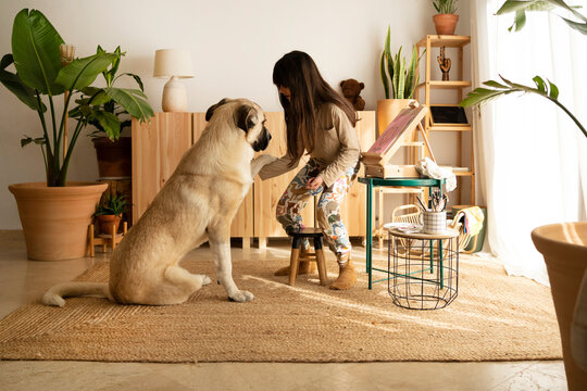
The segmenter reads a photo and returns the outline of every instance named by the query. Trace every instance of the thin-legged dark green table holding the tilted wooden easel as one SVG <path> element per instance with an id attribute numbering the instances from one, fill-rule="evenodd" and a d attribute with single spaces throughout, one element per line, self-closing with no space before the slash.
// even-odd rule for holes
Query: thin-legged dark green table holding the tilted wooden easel
<path id="1" fill-rule="evenodd" d="M 387 281 L 387 277 L 373 281 L 373 270 L 385 272 L 388 270 L 378 269 L 373 267 L 373 189 L 375 187 L 427 187 L 428 193 L 432 194 L 433 188 L 438 188 L 440 194 L 442 193 L 442 184 L 445 179 L 432 179 L 432 178 L 372 178 L 362 177 L 359 178 L 361 184 L 366 185 L 366 245 L 365 245 L 365 268 L 369 275 L 369 289 L 372 289 L 373 283 L 379 281 Z M 383 216 L 379 216 L 382 218 Z"/>

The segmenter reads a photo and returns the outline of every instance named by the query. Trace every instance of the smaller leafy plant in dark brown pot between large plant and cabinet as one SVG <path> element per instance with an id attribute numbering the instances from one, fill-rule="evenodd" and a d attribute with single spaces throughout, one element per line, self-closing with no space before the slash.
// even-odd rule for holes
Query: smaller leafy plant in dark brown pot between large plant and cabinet
<path id="1" fill-rule="evenodd" d="M 96 53 L 105 53 L 105 51 L 98 46 Z M 137 118 L 150 118 L 154 114 L 152 108 L 143 99 L 146 96 L 140 77 L 132 73 L 116 75 L 124 53 L 121 52 L 121 47 L 117 47 L 114 53 L 118 54 L 118 58 L 112 62 L 110 68 L 102 72 L 107 87 L 84 88 L 82 98 L 76 101 L 79 105 L 70 115 L 79 117 L 84 111 L 93 113 L 89 124 L 96 130 L 90 136 L 96 148 L 100 178 L 129 178 L 132 176 L 130 137 L 121 137 L 121 134 L 125 128 L 130 128 L 130 115 Z M 132 77 L 139 89 L 114 87 L 116 80 L 124 76 Z M 123 106 L 117 100 L 121 100 L 120 98 L 124 94 L 128 97 L 128 100 Z M 115 100 L 115 97 L 118 99 Z M 100 121 L 101 114 L 108 115 L 109 121 Z"/>

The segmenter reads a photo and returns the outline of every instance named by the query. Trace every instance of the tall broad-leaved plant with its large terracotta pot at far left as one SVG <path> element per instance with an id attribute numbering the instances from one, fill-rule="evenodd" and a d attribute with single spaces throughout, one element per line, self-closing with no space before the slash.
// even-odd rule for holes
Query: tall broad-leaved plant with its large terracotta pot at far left
<path id="1" fill-rule="evenodd" d="M 121 54 L 103 52 L 62 62 L 60 47 L 63 43 L 59 33 L 40 11 L 24 9 L 14 18 L 12 53 L 5 54 L 0 62 L 0 81 L 37 113 L 42 129 L 40 137 L 25 137 L 21 144 L 35 143 L 40 147 L 46 181 L 9 186 L 16 199 L 30 260 L 55 261 L 84 256 L 91 215 L 108 187 L 105 184 L 66 181 L 66 178 L 82 131 L 91 119 L 108 123 L 111 116 L 103 112 L 82 111 L 82 115 L 75 118 L 76 125 L 68 137 L 68 144 L 64 141 L 72 97 L 89 87 Z M 15 73 L 7 70 L 12 64 Z M 114 93 L 112 99 L 123 106 L 139 96 Z M 61 115 L 54 102 L 59 96 L 64 96 Z M 93 94 L 88 104 L 98 99 L 100 94 Z"/>

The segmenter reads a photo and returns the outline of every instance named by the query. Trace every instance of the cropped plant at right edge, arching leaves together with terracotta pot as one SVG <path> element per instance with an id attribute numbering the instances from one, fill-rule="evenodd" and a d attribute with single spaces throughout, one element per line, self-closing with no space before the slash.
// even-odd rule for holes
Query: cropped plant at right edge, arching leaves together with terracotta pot
<path id="1" fill-rule="evenodd" d="M 515 13 L 510 30 L 524 27 L 528 11 L 560 10 L 571 14 L 562 17 L 572 28 L 587 35 L 587 17 L 562 0 L 505 1 L 498 15 Z M 501 76 L 500 76 L 501 77 Z M 484 87 L 471 91 L 461 102 L 471 106 L 509 93 L 534 93 L 557 104 L 587 137 L 585 126 L 559 100 L 559 88 L 540 76 L 533 78 L 536 87 L 513 83 L 501 77 L 500 83 L 484 81 Z M 532 231 L 536 249 L 545 257 L 552 301 L 557 312 L 563 349 L 564 369 L 570 390 L 584 390 L 587 384 L 587 222 L 559 223 Z"/>

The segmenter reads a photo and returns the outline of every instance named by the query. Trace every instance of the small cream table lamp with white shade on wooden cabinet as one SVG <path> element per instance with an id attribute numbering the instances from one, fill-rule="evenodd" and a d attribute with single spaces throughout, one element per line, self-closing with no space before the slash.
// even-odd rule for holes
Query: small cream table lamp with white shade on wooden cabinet
<path id="1" fill-rule="evenodd" d="M 188 50 L 160 49 L 155 51 L 154 77 L 170 77 L 163 88 L 161 106 L 164 112 L 187 111 L 187 91 L 180 78 L 193 77 Z"/>

